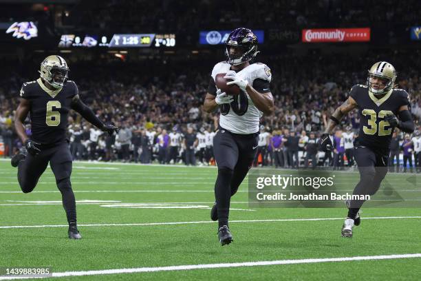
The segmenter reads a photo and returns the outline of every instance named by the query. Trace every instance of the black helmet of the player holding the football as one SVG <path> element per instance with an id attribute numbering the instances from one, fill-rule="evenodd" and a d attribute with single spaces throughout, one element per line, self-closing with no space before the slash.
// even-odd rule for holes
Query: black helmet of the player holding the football
<path id="1" fill-rule="evenodd" d="M 233 30 L 225 42 L 226 61 L 230 65 L 240 65 L 253 59 L 257 53 L 257 37 L 248 28 L 237 28 Z M 240 55 L 230 54 L 230 47 L 235 46 L 243 50 Z"/>

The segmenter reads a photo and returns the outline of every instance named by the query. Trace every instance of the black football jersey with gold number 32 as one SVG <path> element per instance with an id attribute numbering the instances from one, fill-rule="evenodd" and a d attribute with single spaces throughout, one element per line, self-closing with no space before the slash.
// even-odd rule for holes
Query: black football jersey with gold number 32
<path id="1" fill-rule="evenodd" d="M 358 104 L 360 115 L 360 132 L 356 143 L 381 154 L 389 154 L 394 128 L 383 119 L 391 113 L 398 116 L 399 108 L 409 105 L 408 93 L 401 89 L 393 89 L 384 97 L 376 98 L 366 85 L 355 85 L 349 96 Z"/>

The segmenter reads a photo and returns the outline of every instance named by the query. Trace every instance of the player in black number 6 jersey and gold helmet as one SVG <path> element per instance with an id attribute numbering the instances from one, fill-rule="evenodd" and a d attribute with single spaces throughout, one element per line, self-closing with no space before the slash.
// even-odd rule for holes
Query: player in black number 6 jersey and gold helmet
<path id="1" fill-rule="evenodd" d="M 80 239 L 76 226 L 76 201 L 70 175 L 72 155 L 66 138 L 67 116 L 75 110 L 103 132 L 112 135 L 118 131 L 114 125 L 105 125 L 78 96 L 78 87 L 67 81 L 69 67 L 61 56 L 47 56 L 41 63 L 40 78 L 23 83 L 21 100 L 16 111 L 14 127 L 24 147 L 12 158 L 18 167 L 18 181 L 23 193 L 31 192 L 47 168 L 50 167 L 61 191 L 63 207 L 69 223 L 68 235 Z M 23 122 L 30 113 L 32 136 L 25 133 Z"/>

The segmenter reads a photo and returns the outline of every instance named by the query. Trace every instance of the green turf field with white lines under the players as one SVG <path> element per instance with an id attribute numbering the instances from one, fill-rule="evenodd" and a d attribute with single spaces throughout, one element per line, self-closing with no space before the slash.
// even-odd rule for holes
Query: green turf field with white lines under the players
<path id="1" fill-rule="evenodd" d="M 216 172 L 74 163 L 83 239 L 69 240 L 52 171 L 45 171 L 34 192 L 22 194 L 17 170 L 0 161 L 0 267 L 52 267 L 54 273 L 82 275 L 58 280 L 420 280 L 420 254 L 388 257 L 421 253 L 417 208 L 363 209 L 354 238 L 341 238 L 345 206 L 250 209 L 244 183 L 232 198 L 234 242 L 221 247 L 217 223 L 209 218 Z M 346 176 L 358 180 L 357 174 Z M 362 256 L 371 258 L 343 259 Z M 253 263 L 261 261 L 277 262 Z M 197 264 L 206 265 L 176 267 Z"/>

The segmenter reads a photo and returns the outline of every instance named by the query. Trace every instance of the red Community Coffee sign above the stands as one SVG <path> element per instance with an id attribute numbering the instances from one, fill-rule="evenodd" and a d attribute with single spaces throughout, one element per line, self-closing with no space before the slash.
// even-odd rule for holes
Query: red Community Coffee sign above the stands
<path id="1" fill-rule="evenodd" d="M 302 32 L 305 43 L 314 42 L 366 42 L 370 41 L 370 28 L 306 29 Z"/>

